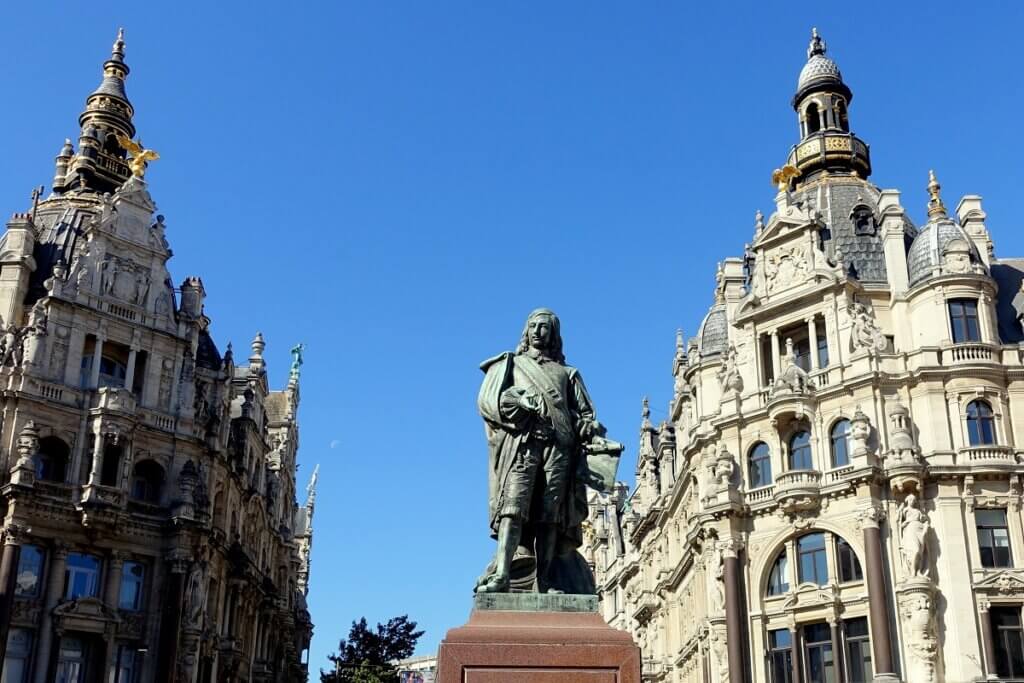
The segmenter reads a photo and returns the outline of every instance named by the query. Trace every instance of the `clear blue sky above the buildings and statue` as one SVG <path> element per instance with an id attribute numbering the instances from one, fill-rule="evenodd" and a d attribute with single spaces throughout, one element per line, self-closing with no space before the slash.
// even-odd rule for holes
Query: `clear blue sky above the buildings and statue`
<path id="1" fill-rule="evenodd" d="M 872 179 L 920 221 L 985 198 L 1024 255 L 1020 3 L 5 3 L 0 209 L 77 136 L 117 27 L 147 174 L 221 349 L 307 344 L 300 479 L 321 464 L 310 666 L 366 615 L 434 649 L 492 552 L 477 364 L 562 317 L 610 435 L 671 394 L 715 263 L 738 255 L 812 26 L 853 88 Z"/>

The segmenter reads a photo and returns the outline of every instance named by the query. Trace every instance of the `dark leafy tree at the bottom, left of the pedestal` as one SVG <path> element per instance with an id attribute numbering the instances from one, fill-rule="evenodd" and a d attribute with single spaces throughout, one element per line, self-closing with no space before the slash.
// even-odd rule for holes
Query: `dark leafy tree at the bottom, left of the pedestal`
<path id="1" fill-rule="evenodd" d="M 416 622 L 402 614 L 378 624 L 376 629 L 367 626 L 366 617 L 352 622 L 348 638 L 338 643 L 338 652 L 329 654 L 329 671 L 321 669 L 322 683 L 398 683 L 394 664 L 406 659 L 416 650 L 416 641 L 423 635 L 416 630 Z"/>

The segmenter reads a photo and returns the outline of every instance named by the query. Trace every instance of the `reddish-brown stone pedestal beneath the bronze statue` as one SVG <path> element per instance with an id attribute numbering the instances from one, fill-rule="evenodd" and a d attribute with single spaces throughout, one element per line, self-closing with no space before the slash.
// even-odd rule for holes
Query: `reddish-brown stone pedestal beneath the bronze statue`
<path id="1" fill-rule="evenodd" d="M 477 595 L 447 632 L 437 683 L 640 683 L 640 648 L 590 595 Z"/>

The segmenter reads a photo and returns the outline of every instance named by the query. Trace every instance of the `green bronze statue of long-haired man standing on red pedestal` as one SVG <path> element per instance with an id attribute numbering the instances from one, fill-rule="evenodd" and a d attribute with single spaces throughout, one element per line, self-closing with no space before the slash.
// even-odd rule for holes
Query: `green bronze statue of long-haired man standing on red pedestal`
<path id="1" fill-rule="evenodd" d="M 623 446 L 604 438 L 580 371 L 565 365 L 558 316 L 531 312 L 515 352 L 481 370 L 477 404 L 498 550 L 476 591 L 595 593 L 593 572 L 577 552 L 587 486 L 611 489 Z"/>

